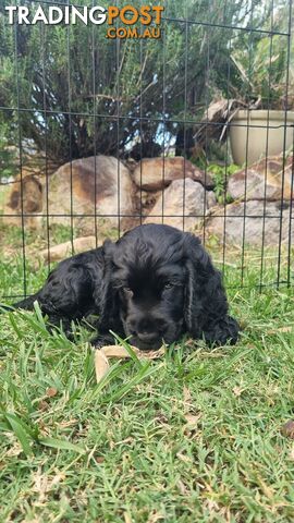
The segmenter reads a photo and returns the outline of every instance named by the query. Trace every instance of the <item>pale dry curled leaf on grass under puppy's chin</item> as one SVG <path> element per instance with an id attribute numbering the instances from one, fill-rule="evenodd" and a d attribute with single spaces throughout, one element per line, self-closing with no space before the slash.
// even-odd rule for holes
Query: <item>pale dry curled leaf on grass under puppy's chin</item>
<path id="1" fill-rule="evenodd" d="M 132 346 L 132 350 L 138 357 L 144 357 L 147 360 L 155 360 L 164 354 L 164 346 L 158 351 L 139 351 L 136 346 Z M 95 372 L 97 384 L 101 381 L 110 368 L 108 357 L 126 358 L 131 357 L 131 355 L 126 349 L 121 345 L 106 345 L 102 346 L 102 349 L 97 350 L 95 353 Z"/>

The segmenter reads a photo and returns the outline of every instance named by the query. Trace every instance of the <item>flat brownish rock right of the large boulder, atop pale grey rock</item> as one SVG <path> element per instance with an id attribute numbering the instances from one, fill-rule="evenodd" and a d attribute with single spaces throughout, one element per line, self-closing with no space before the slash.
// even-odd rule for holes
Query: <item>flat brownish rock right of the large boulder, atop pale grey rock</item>
<path id="1" fill-rule="evenodd" d="M 212 187 L 209 173 L 205 173 L 182 156 L 174 158 L 145 158 L 133 171 L 135 184 L 145 191 L 159 191 L 174 180 L 191 178 L 206 187 Z"/>

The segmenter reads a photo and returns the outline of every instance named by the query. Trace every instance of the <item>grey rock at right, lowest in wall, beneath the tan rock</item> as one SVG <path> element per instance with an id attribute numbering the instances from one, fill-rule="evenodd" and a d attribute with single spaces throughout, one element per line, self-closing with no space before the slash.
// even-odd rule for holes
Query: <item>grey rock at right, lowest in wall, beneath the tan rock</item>
<path id="1" fill-rule="evenodd" d="M 281 211 L 281 203 L 266 202 L 266 209 L 264 209 L 264 202 L 253 199 L 246 203 L 233 203 L 226 205 L 225 217 L 224 207 L 215 207 L 213 214 L 206 220 L 206 232 L 210 235 L 217 235 L 220 241 L 230 244 L 242 246 L 243 233 L 245 234 L 245 244 L 261 245 L 262 236 L 265 238 L 265 245 L 278 245 L 280 238 L 280 219 L 282 216 L 282 242 L 289 242 L 290 233 L 290 202 L 284 202 Z M 246 218 L 244 221 L 244 211 Z M 264 224 L 265 212 L 265 224 Z M 292 219 L 294 217 L 294 206 L 292 209 Z M 245 230 L 244 230 L 245 222 Z M 225 229 L 224 229 L 225 227 Z M 264 230 L 265 227 L 265 230 Z M 294 227 L 291 229 L 291 242 L 294 242 Z"/>

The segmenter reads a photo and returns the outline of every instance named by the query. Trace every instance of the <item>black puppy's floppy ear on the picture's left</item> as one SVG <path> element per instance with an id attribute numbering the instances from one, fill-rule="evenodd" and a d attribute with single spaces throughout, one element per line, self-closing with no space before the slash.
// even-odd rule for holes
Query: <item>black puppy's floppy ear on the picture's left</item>
<path id="1" fill-rule="evenodd" d="M 110 240 L 103 243 L 105 265 L 102 277 L 100 276 L 94 281 L 94 300 L 99 311 L 98 329 L 101 332 L 108 332 L 109 329 L 118 330 L 120 324 L 119 299 L 111 282 L 114 248 L 115 245 Z"/>

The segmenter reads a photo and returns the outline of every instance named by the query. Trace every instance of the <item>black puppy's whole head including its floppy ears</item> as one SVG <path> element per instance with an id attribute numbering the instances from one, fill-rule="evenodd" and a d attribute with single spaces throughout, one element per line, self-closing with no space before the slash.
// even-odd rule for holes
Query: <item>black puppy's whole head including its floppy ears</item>
<path id="1" fill-rule="evenodd" d="M 112 295 L 106 303 L 131 343 L 158 349 L 162 340 L 172 343 L 183 331 L 194 338 L 205 335 L 211 343 L 236 341 L 238 326 L 228 316 L 221 273 L 198 238 L 147 224 L 105 250 Z M 103 316 L 108 324 L 110 309 Z"/>

